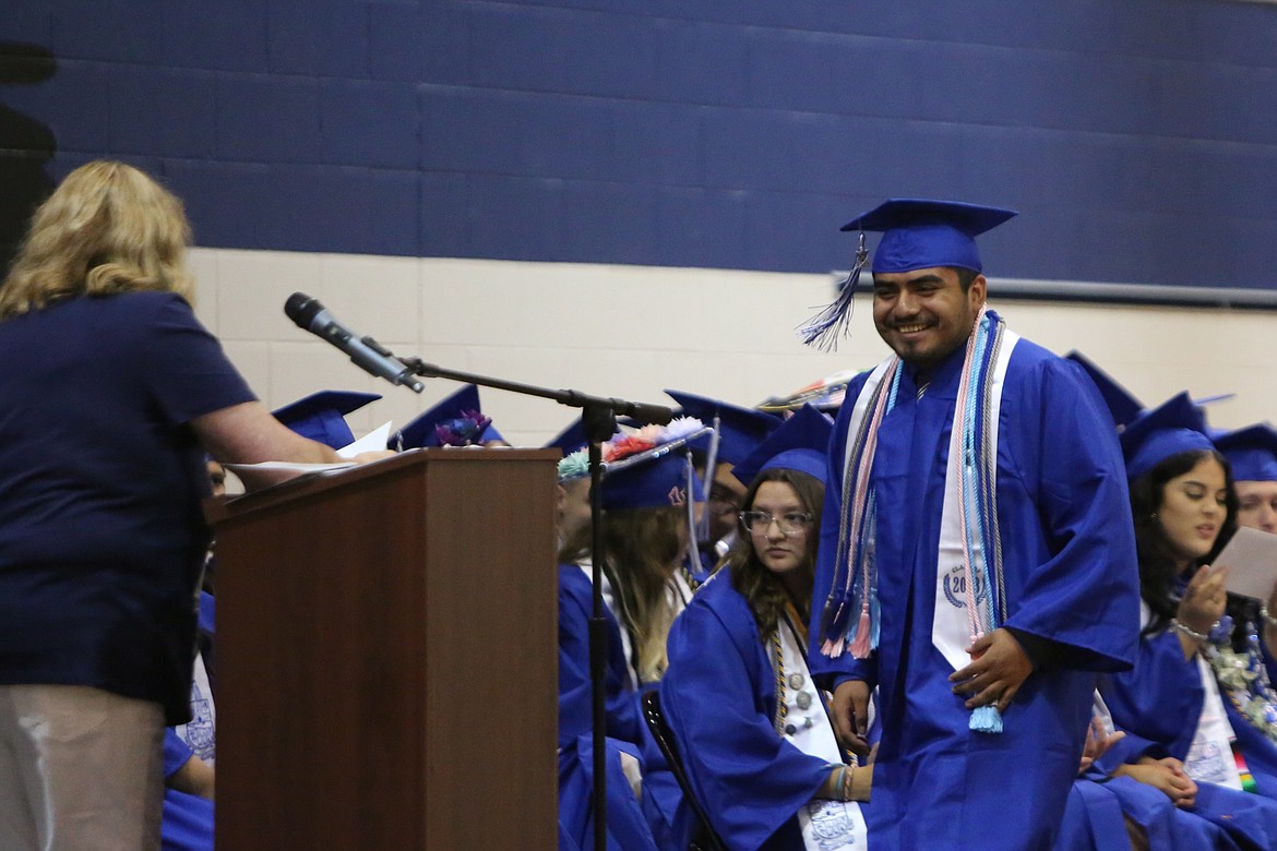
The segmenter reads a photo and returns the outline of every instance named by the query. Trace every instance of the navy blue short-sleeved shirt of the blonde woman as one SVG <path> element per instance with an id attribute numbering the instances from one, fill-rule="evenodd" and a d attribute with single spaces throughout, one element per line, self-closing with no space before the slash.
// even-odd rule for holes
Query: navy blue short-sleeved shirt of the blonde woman
<path id="1" fill-rule="evenodd" d="M 192 418 L 254 399 L 179 296 L 73 297 L 0 323 L 0 683 L 185 721 L 208 544 Z"/>

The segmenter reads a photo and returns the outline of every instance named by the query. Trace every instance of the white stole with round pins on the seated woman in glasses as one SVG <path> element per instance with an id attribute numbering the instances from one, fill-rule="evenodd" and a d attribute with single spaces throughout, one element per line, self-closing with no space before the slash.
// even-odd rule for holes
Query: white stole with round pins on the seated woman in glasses
<path id="1" fill-rule="evenodd" d="M 782 735 L 798 750 L 827 763 L 843 762 L 829 722 L 825 704 L 811 680 L 807 660 L 798 647 L 798 637 L 788 620 L 776 625 L 780 634 L 780 658 L 785 672 L 779 683 L 784 700 L 785 727 Z M 778 707 L 779 711 L 779 707 Z M 816 799 L 798 808 L 798 824 L 807 851 L 867 851 L 868 828 L 856 801 Z"/>

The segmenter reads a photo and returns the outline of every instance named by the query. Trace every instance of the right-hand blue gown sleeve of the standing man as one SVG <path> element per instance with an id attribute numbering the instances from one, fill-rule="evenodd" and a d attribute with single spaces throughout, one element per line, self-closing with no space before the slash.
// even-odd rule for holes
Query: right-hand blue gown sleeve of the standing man
<path id="1" fill-rule="evenodd" d="M 999 500 L 1011 510 L 999 508 L 1018 588 L 1004 625 L 1057 646 L 1050 656 L 1066 667 L 1117 671 L 1139 639 L 1139 569 L 1116 434 L 1085 381 L 1050 357 L 1006 390 Z M 1036 510 L 1015 510 L 1019 500 Z"/>

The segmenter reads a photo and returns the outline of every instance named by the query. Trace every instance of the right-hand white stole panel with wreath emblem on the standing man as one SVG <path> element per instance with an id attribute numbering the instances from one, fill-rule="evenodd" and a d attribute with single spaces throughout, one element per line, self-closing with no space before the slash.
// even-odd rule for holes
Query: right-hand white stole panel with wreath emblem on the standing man
<path id="1" fill-rule="evenodd" d="M 988 380 L 992 385 L 988 388 L 988 411 L 985 417 L 985 422 L 991 427 L 988 433 L 985 434 L 985 444 L 987 445 L 987 457 L 997 463 L 997 422 L 999 413 L 1002 408 L 1002 388 L 1006 383 L 1006 366 L 1010 364 L 1011 352 L 1015 350 L 1015 343 L 1020 339 L 1019 334 L 1010 329 L 1002 330 L 1002 344 L 999 347 L 997 359 L 990 364 L 990 376 Z M 972 393 L 982 393 L 982 388 L 973 388 Z M 958 412 L 954 411 L 954 420 L 958 420 Z M 964 564 L 967 561 L 967 541 L 965 531 L 963 528 L 962 519 L 962 500 L 963 494 L 962 487 L 962 472 L 963 464 L 968 468 L 968 477 L 978 481 L 981 471 L 976 467 L 977 459 L 964 457 L 962 448 L 963 434 L 962 429 L 954 427 L 949 439 L 949 468 L 945 471 L 945 501 L 944 508 L 940 514 L 940 549 L 936 558 L 936 611 L 931 621 L 931 643 L 937 651 L 945 657 L 953 669 L 956 671 L 971 662 L 971 656 L 967 653 L 967 648 L 971 647 L 973 640 L 972 635 L 972 616 L 969 611 L 969 605 L 972 601 L 976 603 L 976 618 L 974 623 L 978 629 L 983 629 L 985 624 L 990 621 L 988 600 L 991 595 L 986 593 L 982 587 L 969 588 L 967 587 L 967 572 Z M 991 476 L 997 476 L 997 471 L 988 471 Z M 995 485 L 996 486 L 996 485 Z M 987 519 L 982 519 L 987 522 Z M 983 545 L 978 536 L 973 536 L 972 540 L 972 561 L 977 556 L 982 558 L 985 564 L 988 565 L 990 570 L 994 566 L 994 559 L 991 552 L 983 552 Z M 972 577 L 976 583 L 982 583 L 985 579 L 977 572 L 972 572 Z"/>

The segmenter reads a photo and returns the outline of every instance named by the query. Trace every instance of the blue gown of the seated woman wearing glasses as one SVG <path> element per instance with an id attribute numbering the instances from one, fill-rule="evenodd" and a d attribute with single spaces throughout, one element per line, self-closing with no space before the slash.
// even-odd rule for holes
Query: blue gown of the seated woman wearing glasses
<path id="1" fill-rule="evenodd" d="M 715 831 L 730 848 L 801 851 L 798 808 L 829 769 L 776 734 L 770 646 L 730 573 L 696 592 L 668 651 L 660 703 Z"/>

